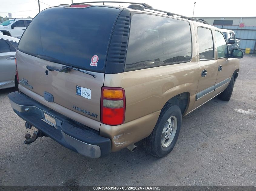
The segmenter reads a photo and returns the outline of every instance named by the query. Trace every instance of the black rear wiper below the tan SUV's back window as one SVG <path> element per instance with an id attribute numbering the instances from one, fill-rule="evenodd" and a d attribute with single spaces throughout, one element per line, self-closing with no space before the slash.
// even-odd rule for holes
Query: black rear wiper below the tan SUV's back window
<path id="1" fill-rule="evenodd" d="M 58 60 L 58 59 L 55 59 L 51 56 L 46 56 L 46 55 L 40 55 L 40 54 L 36 54 L 34 55 L 38 58 L 41 58 L 41 59 L 44 59 L 44 60 L 48 60 L 50 62 L 55 62 L 55 63 L 58 63 L 58 64 L 62 64 L 62 65 L 67 65 L 66 62 L 63 62 L 61 60 Z M 65 72 L 65 73 L 68 73 L 70 71 L 70 69 L 73 69 L 73 70 L 76 70 L 76 71 L 79 71 L 79 72 L 83 72 L 85 74 L 89 74 L 91 75 L 92 77 L 96 78 L 96 75 L 94 74 L 91 74 L 90 72 L 87 72 L 85 70 L 82 70 L 82 69 L 79 69 L 79 68 L 75 68 L 73 66 L 62 66 L 62 69 L 56 69 L 56 68 L 53 68 L 52 66 L 46 66 L 46 68 L 51 72 L 51 71 L 58 71 L 58 72 Z"/>

